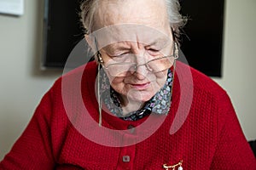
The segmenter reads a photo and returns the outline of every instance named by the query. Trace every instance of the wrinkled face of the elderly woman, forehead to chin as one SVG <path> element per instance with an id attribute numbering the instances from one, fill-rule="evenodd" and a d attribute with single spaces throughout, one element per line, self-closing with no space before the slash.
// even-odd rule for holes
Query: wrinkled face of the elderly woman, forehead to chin
<path id="1" fill-rule="evenodd" d="M 99 7 L 96 26 L 108 31 L 96 41 L 111 86 L 120 94 L 123 105 L 132 101 L 148 101 L 166 82 L 166 62 L 153 62 L 152 66 L 157 69 L 163 67 L 157 72 L 148 70 L 147 65 L 144 65 L 148 60 L 172 54 L 172 32 L 166 10 L 163 10 L 166 8 L 165 3 L 160 2 L 113 1 L 102 3 Z M 139 66 L 134 71 L 119 72 L 118 67 L 114 66 L 120 63 L 135 63 Z M 110 71 L 108 65 L 112 64 L 113 69 Z M 119 66 L 125 69 L 125 65 Z"/>

